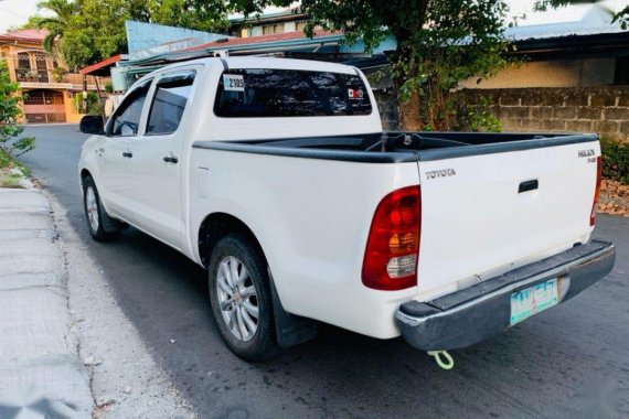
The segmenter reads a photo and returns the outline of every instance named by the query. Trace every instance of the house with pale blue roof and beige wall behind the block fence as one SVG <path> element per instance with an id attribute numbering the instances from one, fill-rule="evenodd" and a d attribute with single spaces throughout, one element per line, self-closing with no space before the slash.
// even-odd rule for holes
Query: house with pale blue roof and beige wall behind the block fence
<path id="1" fill-rule="evenodd" d="M 505 37 L 521 58 L 495 76 L 465 88 L 591 87 L 629 84 L 629 31 L 611 22 L 598 4 L 573 4 L 546 11 L 553 23 L 508 28 Z M 562 17 L 564 14 L 564 17 Z M 562 19 L 563 18 L 563 19 Z M 562 21 L 555 21 L 559 20 Z M 534 21 L 534 20 L 533 20 Z"/>

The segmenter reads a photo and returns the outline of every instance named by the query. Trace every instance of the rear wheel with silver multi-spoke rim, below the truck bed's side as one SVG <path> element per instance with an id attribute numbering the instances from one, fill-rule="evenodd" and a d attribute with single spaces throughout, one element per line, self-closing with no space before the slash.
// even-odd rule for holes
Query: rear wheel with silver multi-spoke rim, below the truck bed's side
<path id="1" fill-rule="evenodd" d="M 252 362 L 278 354 L 267 265 L 257 247 L 237 234 L 220 239 L 209 288 L 214 320 L 232 352 Z"/>

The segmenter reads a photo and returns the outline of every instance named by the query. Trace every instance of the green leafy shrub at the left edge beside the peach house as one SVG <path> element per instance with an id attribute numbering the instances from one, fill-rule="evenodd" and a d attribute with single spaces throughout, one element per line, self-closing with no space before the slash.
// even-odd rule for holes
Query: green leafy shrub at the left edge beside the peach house
<path id="1" fill-rule="evenodd" d="M 0 61 L 0 168 L 11 162 L 12 155 L 21 155 L 35 148 L 35 139 L 24 137 L 18 139 L 24 128 L 18 125 L 18 117 L 22 115 L 18 96 L 19 86 L 9 77 L 6 61 Z"/>

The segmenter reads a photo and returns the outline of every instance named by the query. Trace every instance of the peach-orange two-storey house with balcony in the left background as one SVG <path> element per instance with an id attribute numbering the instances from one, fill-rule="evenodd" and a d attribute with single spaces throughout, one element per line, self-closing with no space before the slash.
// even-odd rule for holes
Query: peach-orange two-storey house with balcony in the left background
<path id="1" fill-rule="evenodd" d="M 42 46 L 45 30 L 18 30 L 0 34 L 0 60 L 8 63 L 11 80 L 24 95 L 22 122 L 77 122 L 82 115 L 75 106 L 84 78 L 70 73 Z M 88 92 L 97 90 L 95 77 L 87 77 Z M 100 85 L 100 88 L 104 86 Z M 82 101 L 82 98 L 81 98 Z"/>

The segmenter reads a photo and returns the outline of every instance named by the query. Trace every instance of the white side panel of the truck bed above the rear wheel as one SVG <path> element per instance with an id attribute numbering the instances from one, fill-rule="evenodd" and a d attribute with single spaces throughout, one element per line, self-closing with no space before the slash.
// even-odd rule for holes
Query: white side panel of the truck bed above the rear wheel
<path id="1" fill-rule="evenodd" d="M 361 270 L 380 201 L 418 184 L 417 164 L 359 163 L 193 149 L 191 232 L 212 213 L 259 240 L 284 308 L 374 337 L 394 337 L 394 312 L 416 293 L 365 288 Z M 195 259 L 196 236 L 191 247 Z"/>

